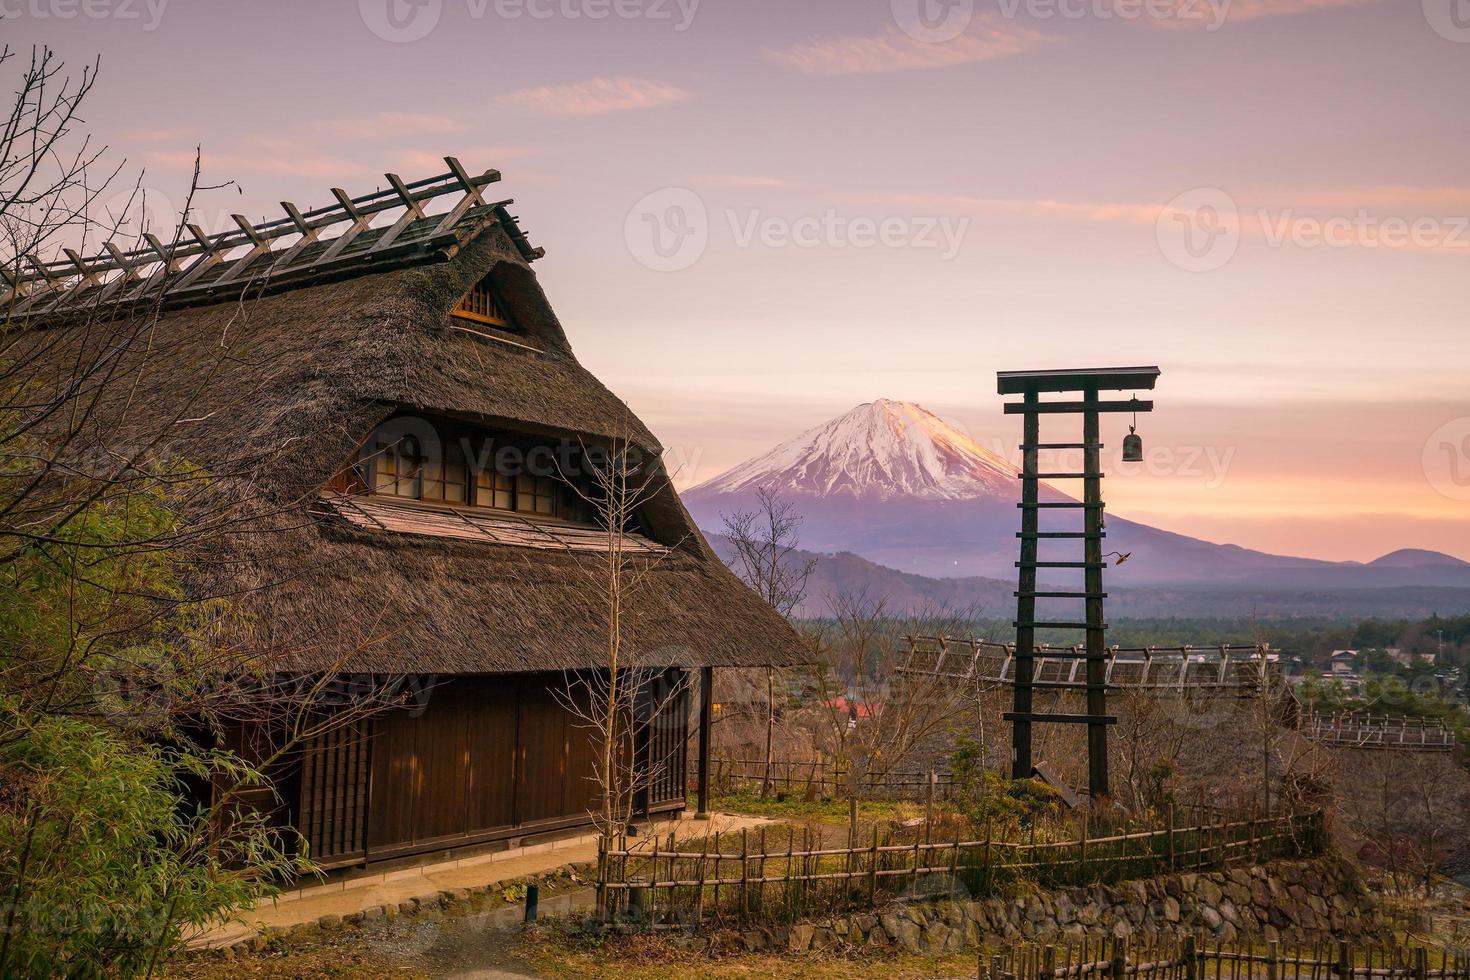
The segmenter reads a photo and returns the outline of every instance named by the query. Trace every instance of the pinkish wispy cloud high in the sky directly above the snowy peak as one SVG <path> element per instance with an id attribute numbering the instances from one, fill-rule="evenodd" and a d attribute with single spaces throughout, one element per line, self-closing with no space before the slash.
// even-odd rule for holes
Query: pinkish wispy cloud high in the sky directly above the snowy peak
<path id="1" fill-rule="evenodd" d="M 847 37 L 767 48 L 764 56 L 806 75 L 869 75 L 948 68 L 1010 57 L 1051 38 L 994 16 L 976 18 L 966 34 L 948 41 L 920 41 L 897 28 L 878 37 Z"/>

